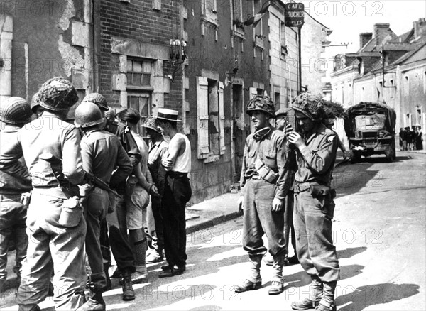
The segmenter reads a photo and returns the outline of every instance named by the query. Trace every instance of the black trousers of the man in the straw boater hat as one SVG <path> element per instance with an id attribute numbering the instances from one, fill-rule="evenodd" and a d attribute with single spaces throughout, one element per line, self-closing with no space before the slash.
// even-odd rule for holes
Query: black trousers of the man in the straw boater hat
<path id="1" fill-rule="evenodd" d="M 168 173 L 162 205 L 164 251 L 169 266 L 186 265 L 185 206 L 192 195 L 190 180 L 184 173 Z"/>

